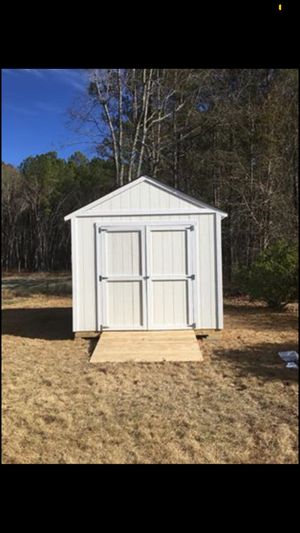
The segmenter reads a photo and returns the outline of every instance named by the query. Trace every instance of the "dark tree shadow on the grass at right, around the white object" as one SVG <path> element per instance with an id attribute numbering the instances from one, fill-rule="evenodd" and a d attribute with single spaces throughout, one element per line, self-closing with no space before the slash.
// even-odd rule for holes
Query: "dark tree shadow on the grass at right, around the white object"
<path id="1" fill-rule="evenodd" d="M 278 352 L 298 352 L 296 343 L 261 343 L 254 346 L 245 346 L 239 350 L 214 350 L 214 354 L 222 362 L 234 366 L 237 377 L 250 377 L 254 375 L 263 381 L 283 380 L 298 381 L 298 370 L 285 368 L 285 363 L 280 359 Z"/>

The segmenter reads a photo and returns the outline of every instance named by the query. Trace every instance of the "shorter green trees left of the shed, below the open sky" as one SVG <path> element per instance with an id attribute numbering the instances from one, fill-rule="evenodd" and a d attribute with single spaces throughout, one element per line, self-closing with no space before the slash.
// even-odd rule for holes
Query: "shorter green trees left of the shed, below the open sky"
<path id="1" fill-rule="evenodd" d="M 48 152 L 25 159 L 18 169 L 2 163 L 2 254 L 4 271 L 70 270 L 69 212 L 112 189 L 110 161 L 75 152 L 68 161 Z"/>

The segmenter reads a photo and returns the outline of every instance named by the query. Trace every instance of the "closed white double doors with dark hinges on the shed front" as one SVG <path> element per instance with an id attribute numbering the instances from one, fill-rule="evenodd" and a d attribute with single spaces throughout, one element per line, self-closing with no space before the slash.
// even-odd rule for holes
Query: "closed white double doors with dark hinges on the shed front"
<path id="1" fill-rule="evenodd" d="M 195 226 L 97 227 L 98 329 L 195 327 Z"/>

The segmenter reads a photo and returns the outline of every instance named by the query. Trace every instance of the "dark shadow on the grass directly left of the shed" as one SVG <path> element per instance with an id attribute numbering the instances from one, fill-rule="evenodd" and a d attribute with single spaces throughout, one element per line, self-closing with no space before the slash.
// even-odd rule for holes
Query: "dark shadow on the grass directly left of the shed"
<path id="1" fill-rule="evenodd" d="M 73 339 L 72 308 L 3 309 L 2 335 L 30 339 Z"/>

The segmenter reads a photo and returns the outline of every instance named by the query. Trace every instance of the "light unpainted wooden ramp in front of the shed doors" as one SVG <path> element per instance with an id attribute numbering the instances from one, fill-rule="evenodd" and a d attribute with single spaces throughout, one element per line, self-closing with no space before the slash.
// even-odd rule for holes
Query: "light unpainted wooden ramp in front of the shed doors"
<path id="1" fill-rule="evenodd" d="M 105 331 L 101 334 L 90 362 L 121 363 L 202 361 L 193 330 Z"/>

